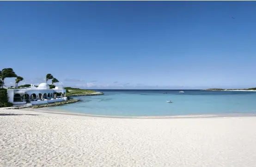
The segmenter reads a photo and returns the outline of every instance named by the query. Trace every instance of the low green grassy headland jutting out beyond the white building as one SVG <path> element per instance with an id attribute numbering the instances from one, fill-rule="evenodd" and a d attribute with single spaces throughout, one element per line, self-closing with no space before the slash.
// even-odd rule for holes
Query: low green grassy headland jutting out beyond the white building
<path id="1" fill-rule="evenodd" d="M 79 96 L 79 95 L 103 95 L 104 93 L 97 92 L 95 90 L 79 89 L 65 87 L 67 96 Z"/>

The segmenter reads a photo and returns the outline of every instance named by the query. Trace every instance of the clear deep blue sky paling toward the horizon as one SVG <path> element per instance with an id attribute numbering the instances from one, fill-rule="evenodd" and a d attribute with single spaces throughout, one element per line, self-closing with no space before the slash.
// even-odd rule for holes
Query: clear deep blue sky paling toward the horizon
<path id="1" fill-rule="evenodd" d="M 25 83 L 256 87 L 255 1 L 1 1 L 0 39 L 0 68 Z"/>

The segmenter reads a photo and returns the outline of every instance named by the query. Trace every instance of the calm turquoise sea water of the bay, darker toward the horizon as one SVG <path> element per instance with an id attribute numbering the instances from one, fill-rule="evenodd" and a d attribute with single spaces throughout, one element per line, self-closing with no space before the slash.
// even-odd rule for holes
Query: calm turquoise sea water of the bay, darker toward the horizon
<path id="1" fill-rule="evenodd" d="M 82 102 L 54 107 L 109 116 L 171 116 L 256 113 L 256 92 L 203 90 L 98 90 L 104 95 L 74 97 Z M 163 94 L 166 93 L 166 94 Z M 167 103 L 171 100 L 173 103 Z"/>

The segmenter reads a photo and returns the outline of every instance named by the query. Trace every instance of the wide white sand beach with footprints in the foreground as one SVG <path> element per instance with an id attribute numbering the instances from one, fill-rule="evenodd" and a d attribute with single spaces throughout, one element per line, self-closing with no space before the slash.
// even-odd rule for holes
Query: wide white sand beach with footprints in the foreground
<path id="1" fill-rule="evenodd" d="M 256 117 L 125 119 L 0 109 L 0 167 L 256 167 L 255 127 Z"/>

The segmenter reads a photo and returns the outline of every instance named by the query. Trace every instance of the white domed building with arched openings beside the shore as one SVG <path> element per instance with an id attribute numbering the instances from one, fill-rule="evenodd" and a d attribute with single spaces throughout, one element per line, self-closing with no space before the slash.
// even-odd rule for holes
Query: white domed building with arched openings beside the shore
<path id="1" fill-rule="evenodd" d="M 38 87 L 31 84 L 30 88 L 7 89 L 7 94 L 9 102 L 13 105 L 47 104 L 67 100 L 66 90 L 63 87 L 50 89 L 47 83 L 40 83 Z"/>

